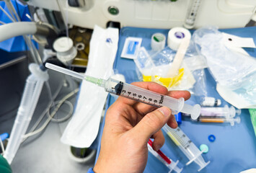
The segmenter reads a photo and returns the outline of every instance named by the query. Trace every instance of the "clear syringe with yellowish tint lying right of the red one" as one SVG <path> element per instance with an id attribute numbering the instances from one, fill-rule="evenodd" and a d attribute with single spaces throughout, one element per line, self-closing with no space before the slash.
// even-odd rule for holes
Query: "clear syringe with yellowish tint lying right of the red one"
<path id="1" fill-rule="evenodd" d="M 162 128 L 165 133 L 172 139 L 172 141 L 180 148 L 180 150 L 187 156 L 187 158 L 190 160 L 187 162 L 186 165 L 192 163 L 195 161 L 196 164 L 199 165 L 200 169 L 198 169 L 198 172 L 206 167 L 210 161 L 206 163 L 204 161 L 203 156 L 201 154 L 203 151 L 200 151 L 195 144 L 188 138 L 185 133 L 178 127 L 178 128 L 170 128 L 168 125 L 164 125 Z"/>

